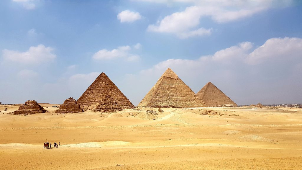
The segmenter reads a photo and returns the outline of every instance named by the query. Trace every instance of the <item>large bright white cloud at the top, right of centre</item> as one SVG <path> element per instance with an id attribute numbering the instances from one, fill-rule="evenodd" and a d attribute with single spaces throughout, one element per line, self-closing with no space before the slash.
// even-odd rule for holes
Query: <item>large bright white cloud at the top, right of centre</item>
<path id="1" fill-rule="evenodd" d="M 148 31 L 172 33 L 176 34 L 179 38 L 189 38 L 211 34 L 210 28 L 207 29 L 200 26 L 200 19 L 202 17 L 211 17 L 213 21 L 218 23 L 230 22 L 250 17 L 261 11 L 268 10 L 269 8 L 275 7 L 275 4 L 280 6 L 288 5 L 291 1 L 172 0 L 157 2 L 192 2 L 194 4 L 193 6 L 185 8 L 184 11 L 175 12 L 171 15 L 165 16 L 156 24 L 149 25 L 147 28 Z M 196 29 L 198 27 L 199 29 Z"/>

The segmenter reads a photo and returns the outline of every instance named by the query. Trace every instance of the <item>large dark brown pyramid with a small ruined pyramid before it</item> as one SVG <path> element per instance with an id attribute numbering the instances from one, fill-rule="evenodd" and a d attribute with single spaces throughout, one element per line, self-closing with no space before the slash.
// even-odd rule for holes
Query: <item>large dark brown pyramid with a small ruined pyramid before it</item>
<path id="1" fill-rule="evenodd" d="M 103 98 L 109 94 L 122 109 L 132 109 L 134 105 L 127 97 L 115 86 L 115 84 L 101 73 L 98 78 L 88 87 L 88 89 L 78 99 L 77 103 L 82 107 L 95 106 Z"/>

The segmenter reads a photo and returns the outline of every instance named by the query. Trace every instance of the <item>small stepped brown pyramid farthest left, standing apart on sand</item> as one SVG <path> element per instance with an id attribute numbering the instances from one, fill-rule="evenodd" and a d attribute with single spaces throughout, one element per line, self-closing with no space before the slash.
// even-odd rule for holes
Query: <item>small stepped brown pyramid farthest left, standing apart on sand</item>
<path id="1" fill-rule="evenodd" d="M 15 115 L 20 114 L 36 114 L 36 113 L 45 113 L 46 110 L 38 105 L 36 100 L 27 100 L 25 104 L 22 104 L 18 110 L 14 111 Z"/>

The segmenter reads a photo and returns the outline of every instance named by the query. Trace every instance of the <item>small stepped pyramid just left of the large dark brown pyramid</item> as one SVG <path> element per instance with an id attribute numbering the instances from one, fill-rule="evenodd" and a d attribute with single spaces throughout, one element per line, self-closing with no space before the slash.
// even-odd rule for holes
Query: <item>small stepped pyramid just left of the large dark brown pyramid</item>
<path id="1" fill-rule="evenodd" d="M 66 99 L 60 108 L 55 111 L 56 113 L 80 113 L 84 112 L 80 105 L 76 103 L 76 100 L 70 97 Z"/>

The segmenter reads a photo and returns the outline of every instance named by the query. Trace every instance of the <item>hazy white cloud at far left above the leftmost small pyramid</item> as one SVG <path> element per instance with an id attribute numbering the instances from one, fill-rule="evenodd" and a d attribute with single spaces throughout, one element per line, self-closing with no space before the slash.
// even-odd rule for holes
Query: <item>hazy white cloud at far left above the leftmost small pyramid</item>
<path id="1" fill-rule="evenodd" d="M 36 47 L 32 46 L 25 52 L 5 49 L 2 51 L 2 56 L 4 60 L 23 64 L 40 64 L 53 61 L 56 58 L 56 55 L 53 54 L 53 48 L 45 47 L 43 44 Z"/>

